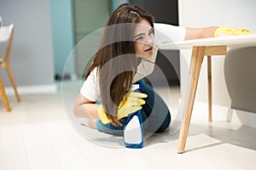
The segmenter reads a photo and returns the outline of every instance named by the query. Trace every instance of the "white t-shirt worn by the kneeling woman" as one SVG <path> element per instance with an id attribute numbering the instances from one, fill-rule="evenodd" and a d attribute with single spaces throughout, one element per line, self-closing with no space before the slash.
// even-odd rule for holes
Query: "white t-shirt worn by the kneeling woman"
<path id="1" fill-rule="evenodd" d="M 150 63 L 145 61 L 138 65 L 138 74 L 135 75 L 133 82 L 137 82 L 154 71 L 154 62 L 156 59 L 157 50 L 160 48 L 161 44 L 166 42 L 183 41 L 185 39 L 185 34 L 185 27 L 154 23 L 155 48 L 152 57 L 148 59 Z M 80 94 L 90 101 L 96 102 L 98 99 L 100 99 L 101 93 L 97 68 L 91 71 L 90 75 L 84 81 L 84 84 L 80 89 Z"/>

